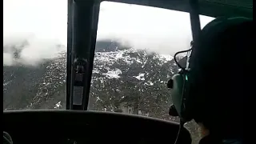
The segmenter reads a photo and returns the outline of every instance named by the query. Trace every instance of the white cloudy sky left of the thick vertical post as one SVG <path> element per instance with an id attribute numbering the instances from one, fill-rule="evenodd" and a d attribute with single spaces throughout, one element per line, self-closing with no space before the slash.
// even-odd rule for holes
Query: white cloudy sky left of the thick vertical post
<path id="1" fill-rule="evenodd" d="M 67 2 L 62 0 L 4 0 L 3 46 L 4 65 L 22 63 L 36 66 L 54 58 L 66 45 Z M 22 42 L 28 45 L 20 48 Z M 22 49 L 20 58 L 13 58 Z M 8 50 L 9 49 L 9 50 Z"/>

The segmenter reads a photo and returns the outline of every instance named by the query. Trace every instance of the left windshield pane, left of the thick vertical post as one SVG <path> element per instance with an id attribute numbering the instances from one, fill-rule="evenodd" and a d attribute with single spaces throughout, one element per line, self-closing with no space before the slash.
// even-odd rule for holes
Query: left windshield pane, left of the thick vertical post
<path id="1" fill-rule="evenodd" d="M 3 1 L 3 110 L 65 109 L 66 26 L 66 1 Z"/>

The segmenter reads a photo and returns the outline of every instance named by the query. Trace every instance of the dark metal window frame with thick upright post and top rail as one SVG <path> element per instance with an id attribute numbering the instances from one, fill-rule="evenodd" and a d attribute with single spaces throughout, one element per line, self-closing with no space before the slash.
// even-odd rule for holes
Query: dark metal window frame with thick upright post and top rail
<path id="1" fill-rule="evenodd" d="M 94 50 L 98 29 L 99 6 L 102 0 L 68 0 L 66 109 L 87 110 Z M 207 0 L 110 0 L 154 6 L 190 13 L 193 39 L 198 38 L 199 14 L 252 17 L 252 7 L 223 5 Z M 242 2 L 242 1 L 241 1 Z M 79 87 L 80 86 L 80 87 Z M 80 91 L 78 90 L 80 88 Z M 82 94 L 78 94 L 81 92 Z M 82 97 L 79 99 L 79 97 Z"/>

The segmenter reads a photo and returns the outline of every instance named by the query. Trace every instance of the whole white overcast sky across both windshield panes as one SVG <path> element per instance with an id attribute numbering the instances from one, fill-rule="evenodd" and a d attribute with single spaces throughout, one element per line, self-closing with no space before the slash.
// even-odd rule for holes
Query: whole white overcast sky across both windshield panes
<path id="1" fill-rule="evenodd" d="M 200 18 L 202 26 L 213 19 Z M 53 58 L 59 51 L 56 44 L 66 46 L 66 26 L 65 0 L 3 0 L 3 45 L 26 39 L 30 46 L 22 50 L 23 63 Z M 190 16 L 149 6 L 102 2 L 98 39 L 118 40 L 137 49 L 173 55 L 190 46 Z M 4 64 L 13 63 L 13 55 L 7 50 Z"/>

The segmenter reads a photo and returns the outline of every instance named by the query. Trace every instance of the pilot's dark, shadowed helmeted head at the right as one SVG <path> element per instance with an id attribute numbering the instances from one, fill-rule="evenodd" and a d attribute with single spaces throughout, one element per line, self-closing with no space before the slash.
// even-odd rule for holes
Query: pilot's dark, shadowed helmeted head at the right
<path id="1" fill-rule="evenodd" d="M 202 30 L 190 57 L 193 118 L 220 137 L 242 136 L 251 93 L 253 22 L 217 18 Z"/>

